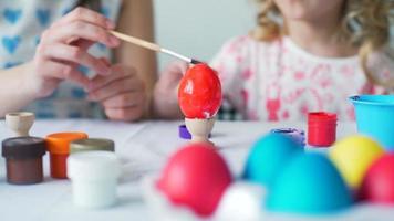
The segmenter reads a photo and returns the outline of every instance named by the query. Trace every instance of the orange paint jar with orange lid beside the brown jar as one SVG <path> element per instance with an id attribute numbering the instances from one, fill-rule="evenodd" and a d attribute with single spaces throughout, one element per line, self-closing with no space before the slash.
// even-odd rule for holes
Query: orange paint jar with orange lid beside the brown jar
<path id="1" fill-rule="evenodd" d="M 51 177 L 66 179 L 66 159 L 70 154 L 70 143 L 86 139 L 85 133 L 58 133 L 46 136 L 46 149 L 50 152 Z"/>

